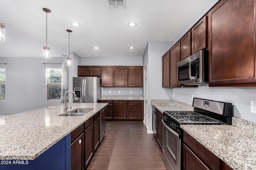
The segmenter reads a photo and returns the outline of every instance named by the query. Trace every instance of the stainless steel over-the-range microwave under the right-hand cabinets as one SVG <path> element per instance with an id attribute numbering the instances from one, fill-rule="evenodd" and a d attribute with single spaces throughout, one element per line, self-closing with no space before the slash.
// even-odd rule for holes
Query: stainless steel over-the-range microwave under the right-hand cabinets
<path id="1" fill-rule="evenodd" d="M 177 70 L 179 84 L 208 84 L 208 50 L 198 51 L 178 62 Z"/>

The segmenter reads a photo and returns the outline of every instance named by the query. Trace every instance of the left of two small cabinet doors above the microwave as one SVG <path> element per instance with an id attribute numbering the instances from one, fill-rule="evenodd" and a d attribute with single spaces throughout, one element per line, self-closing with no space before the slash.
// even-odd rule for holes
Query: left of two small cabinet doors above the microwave
<path id="1" fill-rule="evenodd" d="M 180 58 L 183 60 L 191 55 L 190 31 L 180 39 L 180 46 Z"/>

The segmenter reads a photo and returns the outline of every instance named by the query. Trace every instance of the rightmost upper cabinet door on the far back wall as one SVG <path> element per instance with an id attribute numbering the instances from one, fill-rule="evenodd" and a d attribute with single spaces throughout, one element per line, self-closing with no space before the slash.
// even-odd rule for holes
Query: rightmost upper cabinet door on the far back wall
<path id="1" fill-rule="evenodd" d="M 143 87 L 143 67 L 128 67 L 128 87 Z"/>

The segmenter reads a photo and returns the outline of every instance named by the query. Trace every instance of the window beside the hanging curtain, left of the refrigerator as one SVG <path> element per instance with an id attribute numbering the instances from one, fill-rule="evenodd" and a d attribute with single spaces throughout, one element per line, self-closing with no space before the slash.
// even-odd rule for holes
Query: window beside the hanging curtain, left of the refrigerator
<path id="1" fill-rule="evenodd" d="M 47 70 L 47 100 L 60 100 L 61 68 L 46 68 Z"/>

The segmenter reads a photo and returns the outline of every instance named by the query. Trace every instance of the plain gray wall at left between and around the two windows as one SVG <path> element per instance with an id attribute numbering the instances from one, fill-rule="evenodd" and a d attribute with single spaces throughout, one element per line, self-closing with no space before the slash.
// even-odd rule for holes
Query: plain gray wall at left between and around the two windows
<path id="1" fill-rule="evenodd" d="M 46 100 L 46 68 L 61 68 L 66 58 L 0 58 L 6 68 L 6 100 L 0 100 L 0 115 L 11 115 L 59 104 Z"/>

